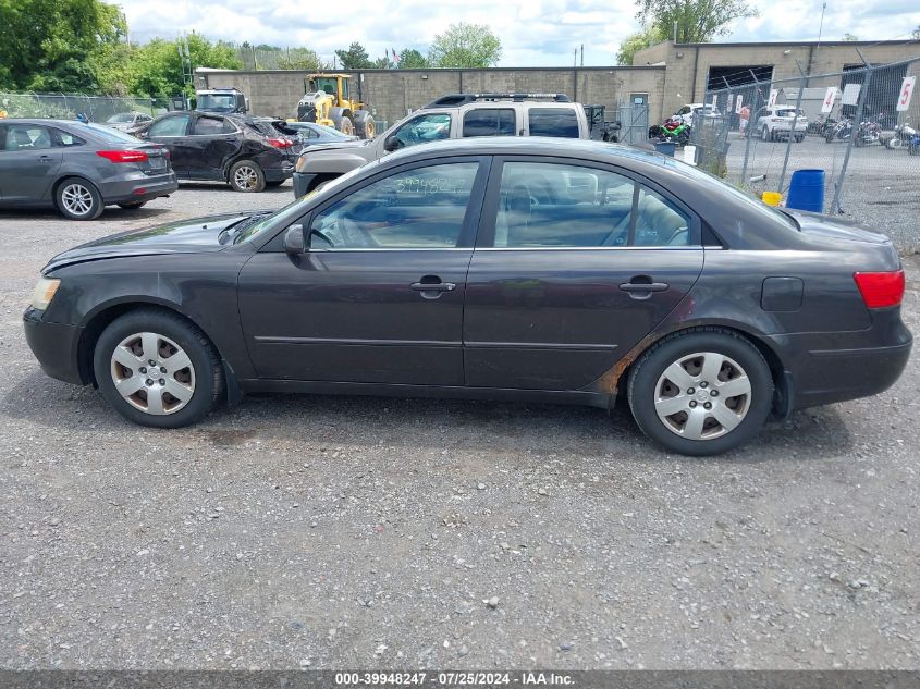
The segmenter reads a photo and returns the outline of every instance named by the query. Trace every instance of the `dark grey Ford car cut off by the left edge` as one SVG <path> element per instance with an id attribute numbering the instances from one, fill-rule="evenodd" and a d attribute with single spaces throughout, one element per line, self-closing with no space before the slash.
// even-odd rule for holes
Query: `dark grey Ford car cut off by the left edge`
<path id="1" fill-rule="evenodd" d="M 169 151 L 101 124 L 0 120 L 0 208 L 57 208 L 72 220 L 140 208 L 179 184 Z"/>

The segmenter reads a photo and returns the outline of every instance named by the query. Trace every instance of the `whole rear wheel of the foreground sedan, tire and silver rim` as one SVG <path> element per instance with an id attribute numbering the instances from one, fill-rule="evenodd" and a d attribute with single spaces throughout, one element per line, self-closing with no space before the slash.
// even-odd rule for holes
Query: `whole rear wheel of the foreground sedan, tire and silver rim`
<path id="1" fill-rule="evenodd" d="M 682 454 L 711 455 L 760 430 L 773 380 L 747 340 L 704 329 L 665 337 L 646 353 L 629 377 L 628 397 L 639 428 L 652 440 Z"/>

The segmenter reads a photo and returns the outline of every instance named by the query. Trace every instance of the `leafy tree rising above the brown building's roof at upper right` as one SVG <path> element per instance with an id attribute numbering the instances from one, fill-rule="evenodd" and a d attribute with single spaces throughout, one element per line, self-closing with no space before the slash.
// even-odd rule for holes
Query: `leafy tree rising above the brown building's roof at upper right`
<path id="1" fill-rule="evenodd" d="M 659 36 L 671 37 L 677 24 L 678 44 L 704 44 L 724 36 L 735 20 L 758 16 L 746 0 L 640 0 L 636 19 Z"/>

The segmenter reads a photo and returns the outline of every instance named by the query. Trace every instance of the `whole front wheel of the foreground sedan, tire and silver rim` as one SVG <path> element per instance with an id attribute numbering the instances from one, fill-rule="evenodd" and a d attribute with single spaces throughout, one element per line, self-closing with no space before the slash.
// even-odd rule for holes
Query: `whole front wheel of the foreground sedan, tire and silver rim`
<path id="1" fill-rule="evenodd" d="M 194 423 L 223 389 L 219 358 L 204 333 L 156 309 L 112 321 L 96 343 L 94 368 L 109 404 L 144 426 Z"/>

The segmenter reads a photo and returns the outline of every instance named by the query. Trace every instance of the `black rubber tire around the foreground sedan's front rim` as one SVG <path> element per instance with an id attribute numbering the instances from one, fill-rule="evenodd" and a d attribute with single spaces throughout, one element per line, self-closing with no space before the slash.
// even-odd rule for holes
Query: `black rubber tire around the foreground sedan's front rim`
<path id="1" fill-rule="evenodd" d="M 174 411 L 167 411 L 162 415 L 149 414 L 128 402 L 115 387 L 113 380 L 115 365 L 113 364 L 112 355 L 115 352 L 115 347 L 125 339 L 137 333 L 156 333 L 159 337 L 169 339 L 188 355 L 188 359 L 192 362 L 192 387 L 194 392 L 191 398 L 184 403 L 184 406 L 179 406 Z M 147 353 L 144 352 L 144 354 Z M 163 362 L 169 361 L 168 358 L 163 358 L 162 360 Z M 144 361 L 140 362 L 144 364 Z M 140 426 L 181 428 L 189 423 L 195 423 L 211 410 L 224 390 L 223 369 L 220 358 L 207 336 L 181 316 L 162 309 L 142 308 L 130 311 L 112 321 L 102 331 L 102 334 L 96 342 L 93 367 L 96 373 L 96 382 L 99 385 L 102 396 L 114 407 L 115 411 L 127 420 L 139 423 Z M 119 371 L 119 374 L 131 378 L 124 368 Z M 159 380 L 165 381 L 165 377 L 170 374 L 173 377 L 179 376 L 175 372 L 156 372 L 150 376 L 149 380 L 154 381 L 156 385 Z M 155 379 L 155 376 L 162 376 L 163 378 Z M 138 390 L 137 394 L 144 393 L 146 395 L 148 390 L 157 389 L 145 386 Z M 161 401 L 165 393 L 160 395 Z M 145 399 L 138 399 L 137 395 L 135 395 L 135 402 L 146 403 Z M 165 407 L 165 404 L 163 406 Z"/>

